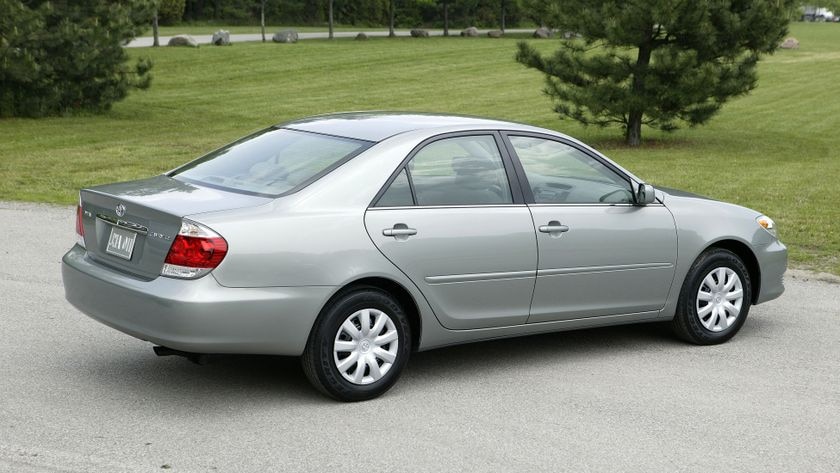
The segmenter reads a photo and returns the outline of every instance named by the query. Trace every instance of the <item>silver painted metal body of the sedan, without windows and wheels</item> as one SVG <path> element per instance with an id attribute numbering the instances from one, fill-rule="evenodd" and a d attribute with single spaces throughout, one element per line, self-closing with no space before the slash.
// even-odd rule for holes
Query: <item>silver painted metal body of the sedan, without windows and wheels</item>
<path id="1" fill-rule="evenodd" d="M 81 192 L 85 246 L 63 260 L 67 299 L 137 338 L 197 353 L 300 355 L 330 298 L 360 282 L 395 293 L 412 316 L 414 346 L 669 320 L 692 262 L 716 245 L 753 280 L 753 303 L 784 287 L 785 246 L 759 212 L 658 189 L 649 205 L 528 204 L 373 207 L 383 186 L 425 143 L 459 133 L 507 133 L 573 144 L 634 186 L 642 181 L 554 131 L 466 117 L 356 113 L 281 127 L 368 140 L 369 148 L 278 198 L 168 175 Z M 515 180 L 515 177 L 511 177 Z M 136 262 L 101 250 L 123 205 L 145 226 Z M 222 235 L 230 250 L 207 276 L 159 276 L 182 218 Z M 571 230 L 537 231 L 551 221 Z M 408 238 L 383 230 L 417 230 Z M 132 267 L 129 267 L 132 264 Z"/>

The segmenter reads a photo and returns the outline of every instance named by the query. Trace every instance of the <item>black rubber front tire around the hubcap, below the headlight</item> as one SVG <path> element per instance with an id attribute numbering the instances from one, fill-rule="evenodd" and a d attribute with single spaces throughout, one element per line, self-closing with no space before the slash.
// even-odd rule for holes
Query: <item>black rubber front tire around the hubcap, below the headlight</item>
<path id="1" fill-rule="evenodd" d="M 728 268 L 735 272 L 741 280 L 743 299 L 734 322 L 720 331 L 713 331 L 704 326 L 698 315 L 700 304 L 698 293 L 704 284 L 704 278 L 717 268 Z M 752 281 L 750 280 L 750 273 L 741 258 L 729 250 L 711 248 L 698 256 L 694 264 L 691 265 L 691 269 L 688 270 L 680 290 L 680 299 L 677 303 L 677 312 L 674 315 L 672 327 L 677 336 L 687 342 L 697 345 L 723 343 L 735 336 L 741 326 L 744 325 L 750 311 L 751 301 Z"/>

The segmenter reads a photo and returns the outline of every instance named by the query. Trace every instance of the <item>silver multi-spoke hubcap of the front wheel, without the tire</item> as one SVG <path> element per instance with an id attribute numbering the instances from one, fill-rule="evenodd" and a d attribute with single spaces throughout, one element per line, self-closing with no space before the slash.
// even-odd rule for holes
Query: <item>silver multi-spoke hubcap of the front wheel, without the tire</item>
<path id="1" fill-rule="evenodd" d="M 697 291 L 697 318 L 708 330 L 720 332 L 735 323 L 744 303 L 744 287 L 738 273 L 715 268 L 703 278 Z"/>

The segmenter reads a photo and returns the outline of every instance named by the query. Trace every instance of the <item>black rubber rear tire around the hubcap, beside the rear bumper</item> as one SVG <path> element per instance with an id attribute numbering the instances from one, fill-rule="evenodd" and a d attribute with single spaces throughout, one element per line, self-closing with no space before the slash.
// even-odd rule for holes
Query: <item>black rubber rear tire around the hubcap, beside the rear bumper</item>
<path id="1" fill-rule="evenodd" d="M 378 380 L 369 384 L 356 384 L 345 379 L 339 371 L 333 347 L 342 324 L 364 309 L 381 311 L 393 322 L 397 333 L 397 346 L 394 349 L 396 358 Z M 312 328 L 301 363 L 306 377 L 316 389 L 333 399 L 354 402 L 373 399 L 388 391 L 399 378 L 410 354 L 411 325 L 405 311 L 387 292 L 365 286 L 340 294 L 324 308 Z M 380 361 L 384 366 L 383 360 L 377 363 Z M 369 370 L 370 367 L 365 369 Z"/>

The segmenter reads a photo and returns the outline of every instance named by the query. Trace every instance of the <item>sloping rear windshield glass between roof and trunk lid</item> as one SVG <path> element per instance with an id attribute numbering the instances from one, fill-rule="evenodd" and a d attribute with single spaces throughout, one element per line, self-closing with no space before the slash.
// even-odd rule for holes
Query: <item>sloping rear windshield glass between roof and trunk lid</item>
<path id="1" fill-rule="evenodd" d="M 272 128 L 213 151 L 170 176 L 210 187 L 279 196 L 306 186 L 370 145 Z"/>

